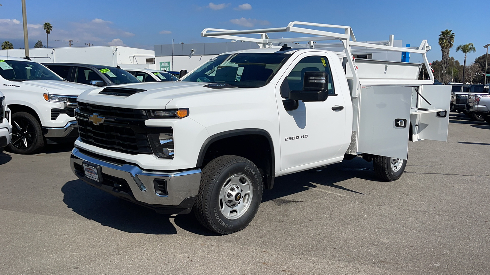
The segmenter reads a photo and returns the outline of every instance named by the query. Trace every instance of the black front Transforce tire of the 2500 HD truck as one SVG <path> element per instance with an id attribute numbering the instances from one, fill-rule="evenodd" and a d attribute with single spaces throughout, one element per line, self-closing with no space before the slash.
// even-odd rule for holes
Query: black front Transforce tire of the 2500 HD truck
<path id="1" fill-rule="evenodd" d="M 231 183 L 232 178 L 235 178 L 235 176 L 242 177 L 240 175 L 245 175 L 245 177 L 238 178 L 237 181 L 242 182 L 243 179 L 248 178 L 245 179 L 247 180 L 245 183 L 249 184 L 248 188 L 251 187 L 252 190 L 251 199 L 250 196 L 248 197 L 248 204 L 245 202 L 245 193 L 243 196 L 239 196 L 237 193 L 234 197 L 229 197 L 230 200 L 227 201 L 220 199 L 220 194 L 223 192 L 226 193 L 223 190 L 233 187 L 233 183 Z M 262 188 L 262 177 L 259 168 L 252 161 L 232 155 L 218 157 L 211 160 L 202 169 L 201 185 L 194 205 L 194 214 L 199 223 L 216 233 L 225 235 L 240 231 L 246 228 L 255 217 L 262 200 Z M 226 194 L 228 195 L 229 193 Z M 228 203 L 236 202 L 233 199 L 237 200 L 237 197 L 239 197 L 238 201 L 243 200 L 241 202 L 243 204 L 240 207 L 247 206 L 238 218 L 229 219 L 223 214 L 225 209 L 223 204 L 226 204 L 225 206 L 228 207 L 226 209 L 233 209 L 233 207 L 228 206 Z M 239 207 L 238 205 L 235 207 Z M 239 212 L 237 211 L 238 214 Z"/>

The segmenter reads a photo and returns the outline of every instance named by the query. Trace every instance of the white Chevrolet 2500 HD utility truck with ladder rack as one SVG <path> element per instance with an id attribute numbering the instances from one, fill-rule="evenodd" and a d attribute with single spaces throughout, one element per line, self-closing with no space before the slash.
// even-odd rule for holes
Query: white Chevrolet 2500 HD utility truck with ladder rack
<path id="1" fill-rule="evenodd" d="M 266 34 L 280 31 L 317 37 Z M 380 180 L 394 181 L 409 140 L 447 138 L 450 86 L 432 85 L 433 75 L 418 80 L 421 64 L 352 58 L 351 46 L 405 51 L 429 67 L 426 41 L 359 43 L 350 27 L 303 22 L 202 35 L 261 48 L 221 54 L 176 82 L 82 93 L 71 155 L 79 179 L 157 212 L 194 208 L 203 226 L 228 234 L 251 222 L 275 177 L 361 156 Z M 343 51 L 274 45 L 315 39 L 340 40 Z"/>

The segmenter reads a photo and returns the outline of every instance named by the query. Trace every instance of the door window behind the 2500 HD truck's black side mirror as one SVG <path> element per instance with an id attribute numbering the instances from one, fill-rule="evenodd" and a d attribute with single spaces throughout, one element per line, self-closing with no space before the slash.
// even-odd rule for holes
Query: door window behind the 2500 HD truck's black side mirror
<path id="1" fill-rule="evenodd" d="M 303 90 L 304 74 L 307 71 L 326 71 L 328 74 L 328 94 L 335 94 L 334 83 L 332 80 L 332 72 L 330 71 L 328 59 L 324 56 L 308 56 L 301 59 L 287 76 L 289 90 Z M 286 83 L 283 83 L 283 85 L 285 84 Z M 284 90 L 286 91 L 287 89 Z M 289 96 L 289 91 L 287 92 L 288 95 L 286 95 L 285 93 L 286 92 L 283 92 L 283 89 L 281 87 L 281 96 L 283 98 L 287 98 Z"/>

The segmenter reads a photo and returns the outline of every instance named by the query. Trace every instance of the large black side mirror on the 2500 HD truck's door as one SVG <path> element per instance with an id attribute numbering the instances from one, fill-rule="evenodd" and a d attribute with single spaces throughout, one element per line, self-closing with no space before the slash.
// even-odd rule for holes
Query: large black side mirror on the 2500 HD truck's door
<path id="1" fill-rule="evenodd" d="M 325 101 L 328 97 L 328 74 L 325 71 L 306 71 L 303 79 L 303 91 L 289 92 L 289 99 Z"/>

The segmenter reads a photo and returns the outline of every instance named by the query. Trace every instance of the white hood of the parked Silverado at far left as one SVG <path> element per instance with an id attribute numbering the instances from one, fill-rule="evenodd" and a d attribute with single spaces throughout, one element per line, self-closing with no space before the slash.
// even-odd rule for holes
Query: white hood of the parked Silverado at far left
<path id="1" fill-rule="evenodd" d="M 22 82 L 16 82 L 20 85 L 29 85 L 44 88 L 50 94 L 62 94 L 62 95 L 79 95 L 89 89 L 93 89 L 94 86 L 79 84 L 68 81 L 60 80 L 25 80 Z"/>

